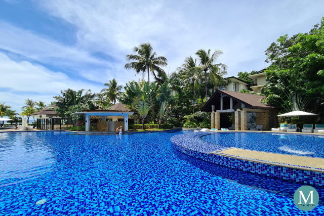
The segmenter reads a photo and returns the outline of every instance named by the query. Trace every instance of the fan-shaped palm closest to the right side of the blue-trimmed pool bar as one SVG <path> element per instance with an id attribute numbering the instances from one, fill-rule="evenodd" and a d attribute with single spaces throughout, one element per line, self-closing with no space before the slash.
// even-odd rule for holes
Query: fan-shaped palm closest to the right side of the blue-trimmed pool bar
<path id="1" fill-rule="evenodd" d="M 145 118 L 153 106 L 153 101 L 150 97 L 137 97 L 134 99 L 132 106 L 135 108 L 139 116 L 142 118 L 142 129 L 145 129 Z"/>

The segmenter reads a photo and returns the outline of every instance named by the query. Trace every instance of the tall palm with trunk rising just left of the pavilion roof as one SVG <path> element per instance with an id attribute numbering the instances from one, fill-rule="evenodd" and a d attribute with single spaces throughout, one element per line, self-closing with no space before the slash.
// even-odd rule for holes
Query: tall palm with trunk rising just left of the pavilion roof
<path id="1" fill-rule="evenodd" d="M 211 50 L 198 50 L 195 53 L 200 61 L 199 67 L 204 71 L 204 79 L 205 79 L 205 95 L 207 100 L 207 73 L 209 73 L 211 80 L 213 80 L 214 84 L 220 85 L 222 82 L 222 76 L 226 74 L 226 65 L 222 63 L 214 64 L 214 62 L 218 59 L 218 57 L 223 54 L 220 50 L 215 50 L 213 54 L 211 54 Z"/>

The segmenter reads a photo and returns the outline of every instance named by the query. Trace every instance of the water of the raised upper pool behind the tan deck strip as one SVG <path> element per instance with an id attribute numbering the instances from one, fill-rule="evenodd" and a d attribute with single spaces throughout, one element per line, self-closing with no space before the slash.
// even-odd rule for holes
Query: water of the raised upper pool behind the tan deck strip
<path id="1" fill-rule="evenodd" d="M 201 137 L 225 147 L 324 158 L 324 136 L 284 133 L 215 133 Z"/>

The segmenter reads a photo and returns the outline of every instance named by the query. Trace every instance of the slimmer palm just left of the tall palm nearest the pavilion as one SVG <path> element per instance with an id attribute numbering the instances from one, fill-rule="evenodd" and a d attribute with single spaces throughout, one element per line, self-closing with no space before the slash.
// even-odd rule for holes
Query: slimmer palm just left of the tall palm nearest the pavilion
<path id="1" fill-rule="evenodd" d="M 187 89 L 192 89 L 193 98 L 192 98 L 192 113 L 194 113 L 194 101 L 196 90 L 199 89 L 199 80 L 201 76 L 201 67 L 196 66 L 196 59 L 187 57 L 182 64 L 182 67 L 178 67 L 180 77 L 184 81 L 184 86 Z"/>

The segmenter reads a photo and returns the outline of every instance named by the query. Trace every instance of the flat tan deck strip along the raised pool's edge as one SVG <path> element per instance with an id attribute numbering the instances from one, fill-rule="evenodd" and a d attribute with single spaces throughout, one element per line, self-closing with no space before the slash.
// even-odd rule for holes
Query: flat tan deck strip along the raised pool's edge
<path id="1" fill-rule="evenodd" d="M 298 166 L 303 170 L 324 172 L 324 158 L 318 157 L 269 153 L 240 148 L 228 148 L 211 152 L 211 154 L 290 168 L 296 168 Z"/>

